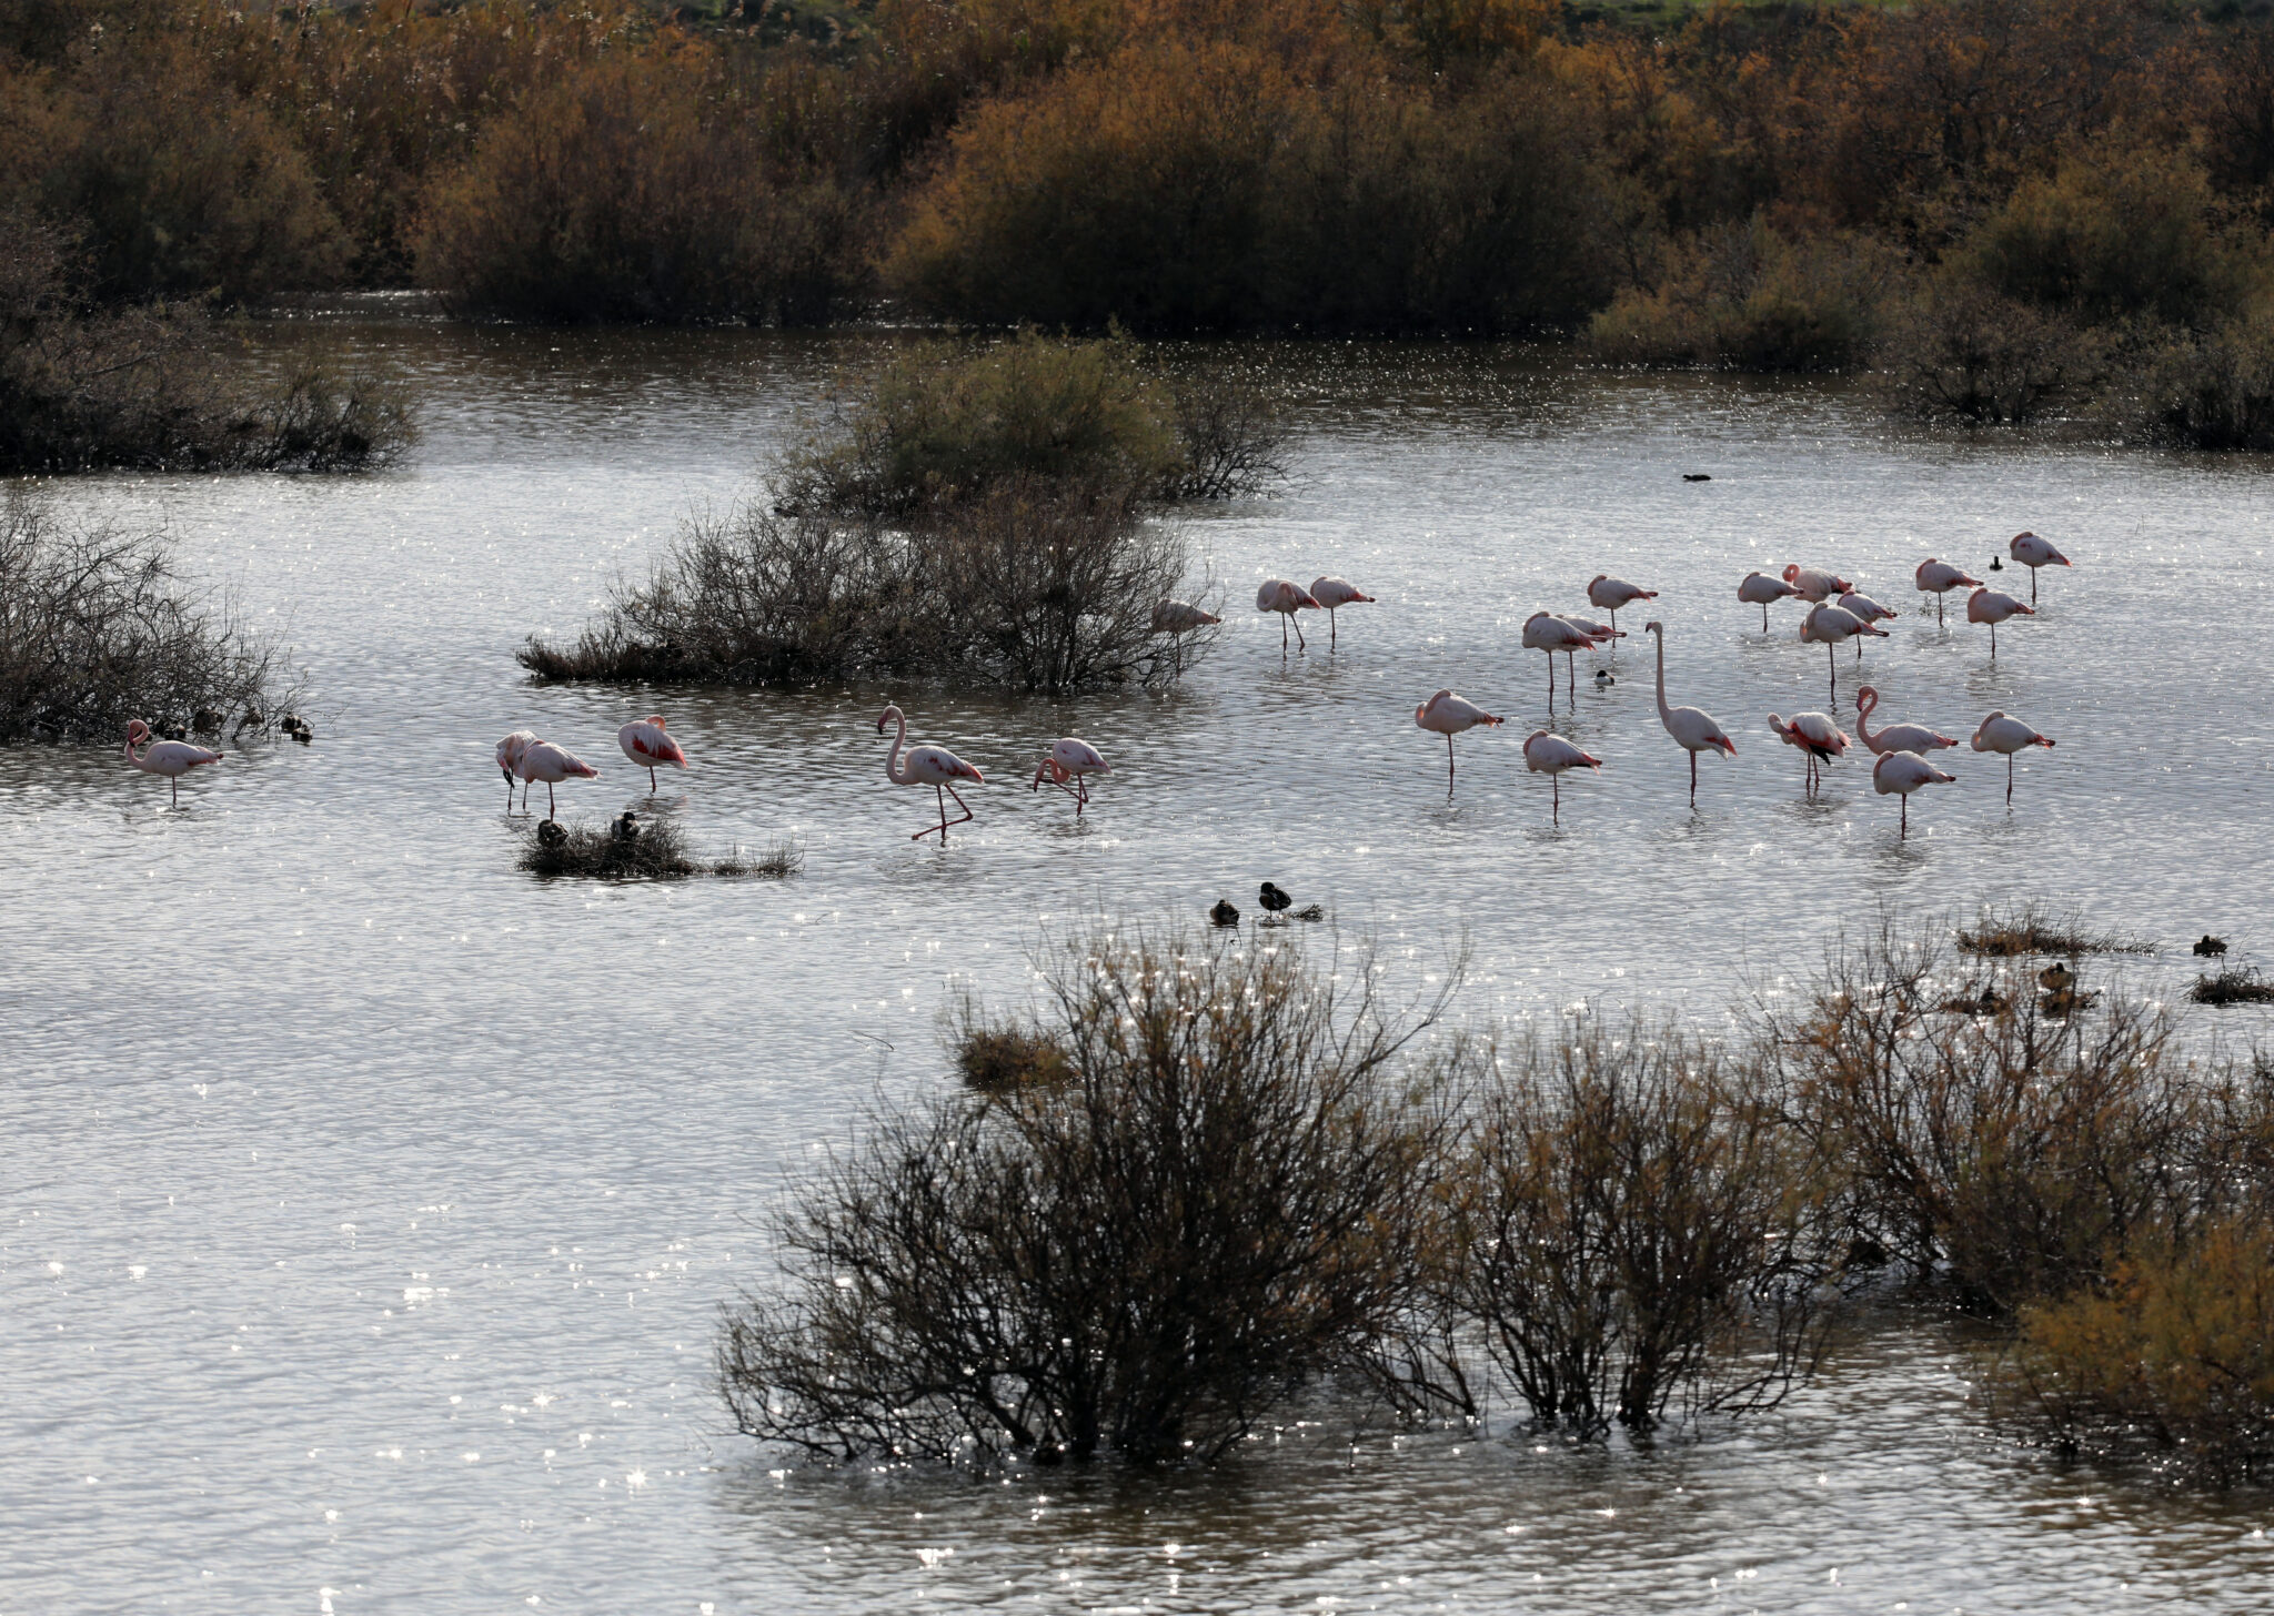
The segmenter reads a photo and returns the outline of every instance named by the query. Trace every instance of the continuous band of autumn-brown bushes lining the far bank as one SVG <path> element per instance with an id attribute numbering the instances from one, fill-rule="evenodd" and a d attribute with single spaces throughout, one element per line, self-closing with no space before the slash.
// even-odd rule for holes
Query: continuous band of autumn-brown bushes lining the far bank
<path id="1" fill-rule="evenodd" d="M 2274 443 L 2274 25 L 2165 0 L 0 11 L 107 307 L 1562 334 Z"/>

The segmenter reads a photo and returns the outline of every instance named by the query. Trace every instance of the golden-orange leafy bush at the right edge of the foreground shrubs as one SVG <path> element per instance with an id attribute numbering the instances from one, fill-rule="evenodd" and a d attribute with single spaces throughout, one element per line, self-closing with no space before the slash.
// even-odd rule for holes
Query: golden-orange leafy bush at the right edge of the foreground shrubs
<path id="1" fill-rule="evenodd" d="M 2274 1230 L 2142 1241 L 2108 1282 L 2022 1311 L 2006 1391 L 2069 1450 L 2235 1482 L 2274 1461 Z"/>

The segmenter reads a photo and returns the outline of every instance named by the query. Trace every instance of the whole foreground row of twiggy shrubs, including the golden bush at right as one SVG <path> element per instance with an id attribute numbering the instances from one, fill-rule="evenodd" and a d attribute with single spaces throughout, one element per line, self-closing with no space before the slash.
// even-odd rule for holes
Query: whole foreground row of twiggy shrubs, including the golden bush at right
<path id="1" fill-rule="evenodd" d="M 1499 1041 L 1458 961 L 1392 1002 L 1337 950 L 1098 925 L 1026 1009 L 964 1005 L 960 1082 L 780 1205 L 719 1346 L 737 1425 L 837 1461 L 1212 1461 L 1328 1405 L 1594 1441 L 1771 1407 L 1935 1305 L 2040 1441 L 2274 1461 L 2274 1064 L 1944 923 L 1735 1036 Z"/>

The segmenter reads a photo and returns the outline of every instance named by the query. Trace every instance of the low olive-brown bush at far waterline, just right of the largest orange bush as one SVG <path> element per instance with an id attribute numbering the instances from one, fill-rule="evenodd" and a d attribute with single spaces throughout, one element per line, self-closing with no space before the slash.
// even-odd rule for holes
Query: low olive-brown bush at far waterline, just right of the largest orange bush
<path id="1" fill-rule="evenodd" d="M 1590 345 L 1628 364 L 1846 370 L 1865 361 L 1894 298 L 1892 255 L 1869 241 L 1794 245 L 1758 216 L 1703 232 L 1655 291 L 1624 291 Z"/>

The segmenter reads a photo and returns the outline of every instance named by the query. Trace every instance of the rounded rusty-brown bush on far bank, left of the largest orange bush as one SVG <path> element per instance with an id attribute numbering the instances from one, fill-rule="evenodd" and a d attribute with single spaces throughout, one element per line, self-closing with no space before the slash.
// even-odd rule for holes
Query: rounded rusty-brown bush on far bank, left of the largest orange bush
<path id="1" fill-rule="evenodd" d="M 609 55 L 528 91 L 437 180 L 418 277 L 537 320 L 828 320 L 862 220 L 825 175 L 766 164 L 698 52 Z"/>

